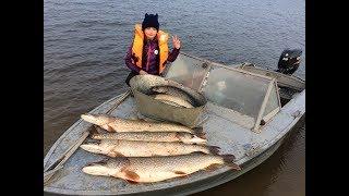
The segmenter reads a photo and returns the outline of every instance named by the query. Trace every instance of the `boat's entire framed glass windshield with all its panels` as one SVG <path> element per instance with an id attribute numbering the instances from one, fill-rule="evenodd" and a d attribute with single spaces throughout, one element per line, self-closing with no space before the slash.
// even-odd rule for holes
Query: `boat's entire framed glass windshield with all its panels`
<path id="1" fill-rule="evenodd" d="M 178 56 L 166 77 L 202 91 L 209 102 L 231 110 L 230 113 L 240 119 L 237 123 L 242 124 L 248 119 L 251 122 L 249 127 L 254 126 L 257 119 L 269 113 L 273 117 L 276 109 L 280 108 L 277 85 L 273 78 L 186 54 Z"/>

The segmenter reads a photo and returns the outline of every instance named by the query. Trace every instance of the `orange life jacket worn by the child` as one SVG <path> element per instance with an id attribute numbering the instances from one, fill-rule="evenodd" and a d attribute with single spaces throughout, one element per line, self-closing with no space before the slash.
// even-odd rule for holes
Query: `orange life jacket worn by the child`
<path id="1" fill-rule="evenodd" d="M 159 73 L 161 73 L 165 69 L 165 64 L 168 58 L 168 34 L 158 30 L 157 32 L 157 40 L 159 45 Z M 140 69 L 142 69 L 142 54 L 143 54 L 143 41 L 144 41 L 144 33 L 142 30 L 142 25 L 136 24 L 134 26 L 134 39 L 133 39 L 133 46 L 132 46 L 132 54 L 137 59 L 136 62 L 132 59 L 132 63 L 137 65 Z"/>

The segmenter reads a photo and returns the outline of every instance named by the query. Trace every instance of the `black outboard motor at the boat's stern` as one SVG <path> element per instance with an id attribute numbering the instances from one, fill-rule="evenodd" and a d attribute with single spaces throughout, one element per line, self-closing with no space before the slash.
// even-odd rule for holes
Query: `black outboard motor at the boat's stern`
<path id="1" fill-rule="evenodd" d="M 301 54 L 302 50 L 300 49 L 285 49 L 280 56 L 276 72 L 292 75 L 299 68 Z"/>

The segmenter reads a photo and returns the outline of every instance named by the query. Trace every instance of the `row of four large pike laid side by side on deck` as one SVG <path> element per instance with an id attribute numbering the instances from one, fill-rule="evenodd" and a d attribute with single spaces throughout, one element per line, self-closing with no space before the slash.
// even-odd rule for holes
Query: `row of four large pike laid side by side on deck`
<path id="1" fill-rule="evenodd" d="M 82 119 L 104 127 L 107 134 L 93 134 L 100 139 L 81 147 L 112 158 L 91 163 L 83 172 L 107 175 L 133 183 L 159 182 L 184 176 L 221 164 L 240 170 L 232 155 L 218 155 L 218 147 L 206 146 L 201 130 L 173 123 L 124 120 L 104 114 L 83 114 Z M 198 145 L 197 145 L 198 144 Z"/>

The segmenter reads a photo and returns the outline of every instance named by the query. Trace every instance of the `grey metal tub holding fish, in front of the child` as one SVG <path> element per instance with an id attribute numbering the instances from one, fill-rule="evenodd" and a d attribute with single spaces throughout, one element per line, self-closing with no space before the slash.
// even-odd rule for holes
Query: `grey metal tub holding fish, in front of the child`
<path id="1" fill-rule="evenodd" d="M 132 77 L 130 85 L 141 114 L 155 120 L 180 123 L 189 127 L 197 125 L 207 102 L 206 98 L 197 91 L 160 76 L 136 75 Z M 189 94 L 196 94 L 195 97 L 198 97 L 198 99 L 194 99 L 194 101 L 197 106 L 194 108 L 181 108 L 161 102 L 149 96 L 154 86 L 174 86 Z"/>

